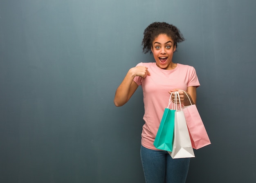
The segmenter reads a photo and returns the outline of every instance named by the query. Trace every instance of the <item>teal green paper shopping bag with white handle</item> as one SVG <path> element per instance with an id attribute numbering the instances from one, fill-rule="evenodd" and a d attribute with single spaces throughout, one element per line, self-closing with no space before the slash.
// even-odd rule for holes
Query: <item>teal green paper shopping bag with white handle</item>
<path id="1" fill-rule="evenodd" d="M 171 95 L 172 96 L 172 95 Z M 157 130 L 154 146 L 160 150 L 173 150 L 173 132 L 174 132 L 174 113 L 175 110 L 169 109 L 171 104 L 171 97 L 169 99 L 168 107 L 164 109 L 164 114 Z"/>

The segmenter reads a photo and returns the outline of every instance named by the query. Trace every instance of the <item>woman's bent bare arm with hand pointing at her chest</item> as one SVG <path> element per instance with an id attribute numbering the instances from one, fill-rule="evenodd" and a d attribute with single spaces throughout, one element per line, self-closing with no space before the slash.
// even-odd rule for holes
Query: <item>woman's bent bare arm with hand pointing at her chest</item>
<path id="1" fill-rule="evenodd" d="M 146 77 L 150 75 L 148 68 L 145 66 L 137 66 L 130 68 L 124 80 L 121 82 L 116 90 L 114 104 L 115 106 L 123 106 L 128 102 L 133 93 L 137 90 L 138 85 L 133 81 L 135 76 Z"/>

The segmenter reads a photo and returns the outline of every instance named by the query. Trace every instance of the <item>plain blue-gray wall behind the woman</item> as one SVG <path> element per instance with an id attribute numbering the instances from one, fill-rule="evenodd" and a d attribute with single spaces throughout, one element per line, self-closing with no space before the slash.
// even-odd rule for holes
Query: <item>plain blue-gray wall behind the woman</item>
<path id="1" fill-rule="evenodd" d="M 115 90 L 154 21 L 180 28 L 212 145 L 188 183 L 256 182 L 255 0 L 0 0 L 0 182 L 143 183 L 141 88 Z"/>

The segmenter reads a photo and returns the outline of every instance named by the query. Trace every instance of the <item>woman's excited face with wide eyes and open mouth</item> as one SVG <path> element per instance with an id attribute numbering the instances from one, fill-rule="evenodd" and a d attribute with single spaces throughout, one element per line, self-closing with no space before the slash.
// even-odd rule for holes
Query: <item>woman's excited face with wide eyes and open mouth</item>
<path id="1" fill-rule="evenodd" d="M 176 46 L 174 46 L 173 40 L 166 34 L 159 34 L 155 40 L 153 40 L 151 47 L 157 66 L 166 70 L 174 68 L 172 60 L 175 50 Z"/>

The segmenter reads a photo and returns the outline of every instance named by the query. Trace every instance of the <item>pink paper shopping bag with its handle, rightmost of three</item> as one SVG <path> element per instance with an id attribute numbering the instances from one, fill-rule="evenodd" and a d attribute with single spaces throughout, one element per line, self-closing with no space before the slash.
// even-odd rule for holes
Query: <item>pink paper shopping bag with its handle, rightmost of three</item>
<path id="1" fill-rule="evenodd" d="M 185 91 L 183 92 L 186 93 Z M 191 105 L 184 106 L 182 110 L 184 112 L 186 124 L 189 129 L 189 135 L 191 138 L 192 147 L 194 149 L 199 149 L 211 144 L 211 141 L 208 137 L 207 131 L 204 127 L 204 123 L 200 117 L 198 109 L 196 108 L 195 104 L 192 105 L 190 99 L 189 101 Z"/>

